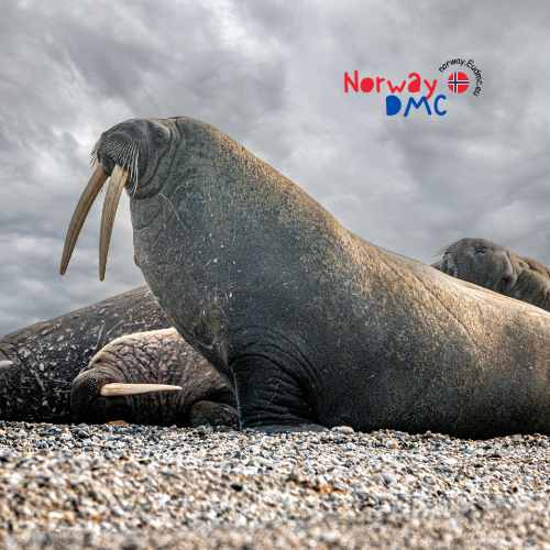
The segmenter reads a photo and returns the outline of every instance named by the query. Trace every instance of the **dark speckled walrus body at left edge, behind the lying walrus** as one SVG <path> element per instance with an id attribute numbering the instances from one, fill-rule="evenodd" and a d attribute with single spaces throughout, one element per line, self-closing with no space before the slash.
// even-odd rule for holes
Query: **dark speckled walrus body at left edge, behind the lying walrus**
<path id="1" fill-rule="evenodd" d="M 0 340 L 0 418 L 68 422 L 70 386 L 109 341 L 129 332 L 169 327 L 151 290 L 142 286 Z"/>

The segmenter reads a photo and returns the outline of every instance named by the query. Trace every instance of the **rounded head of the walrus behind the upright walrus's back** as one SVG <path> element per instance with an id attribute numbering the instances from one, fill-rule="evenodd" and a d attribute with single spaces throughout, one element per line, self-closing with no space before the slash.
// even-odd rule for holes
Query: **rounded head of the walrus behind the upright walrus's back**
<path id="1" fill-rule="evenodd" d="M 509 252 L 485 239 L 457 241 L 446 249 L 435 267 L 502 294 L 506 294 L 517 279 Z"/>

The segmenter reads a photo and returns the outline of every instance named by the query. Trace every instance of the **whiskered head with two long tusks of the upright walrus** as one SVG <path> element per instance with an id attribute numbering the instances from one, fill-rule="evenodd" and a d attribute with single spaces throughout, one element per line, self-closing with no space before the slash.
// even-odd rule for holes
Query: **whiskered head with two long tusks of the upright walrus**
<path id="1" fill-rule="evenodd" d="M 99 278 L 105 279 L 120 195 L 124 188 L 134 197 L 144 197 L 155 191 L 148 184 L 154 179 L 161 158 L 169 150 L 173 131 L 170 119 L 132 119 L 101 134 L 91 152 L 94 174 L 80 196 L 65 239 L 59 267 L 62 275 L 67 271 L 91 205 L 109 182 L 101 215 L 99 246 Z"/>

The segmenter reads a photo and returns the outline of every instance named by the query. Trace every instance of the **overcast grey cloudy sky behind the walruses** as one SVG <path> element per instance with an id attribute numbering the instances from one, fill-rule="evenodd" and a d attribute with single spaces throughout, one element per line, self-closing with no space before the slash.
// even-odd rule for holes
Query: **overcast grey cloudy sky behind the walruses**
<path id="1" fill-rule="evenodd" d="M 142 283 L 128 208 L 105 283 L 97 207 L 57 274 L 89 151 L 134 117 L 215 124 L 403 254 L 428 262 L 446 243 L 484 237 L 550 264 L 547 2 L 0 7 L 0 334 Z M 437 69 L 455 57 L 482 69 L 480 97 L 446 90 Z M 389 118 L 384 95 L 343 92 L 345 70 L 439 78 L 448 113 Z"/>

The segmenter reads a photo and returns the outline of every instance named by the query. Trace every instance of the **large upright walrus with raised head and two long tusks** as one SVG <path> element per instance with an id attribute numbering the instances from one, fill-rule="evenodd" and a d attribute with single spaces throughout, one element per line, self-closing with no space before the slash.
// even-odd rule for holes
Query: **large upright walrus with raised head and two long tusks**
<path id="1" fill-rule="evenodd" d="M 369 243 L 205 122 L 132 119 L 94 155 L 61 272 L 107 183 L 103 278 L 125 189 L 134 260 L 242 429 L 550 433 L 546 311 Z"/>

